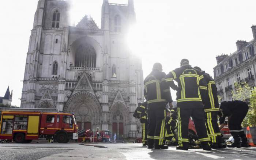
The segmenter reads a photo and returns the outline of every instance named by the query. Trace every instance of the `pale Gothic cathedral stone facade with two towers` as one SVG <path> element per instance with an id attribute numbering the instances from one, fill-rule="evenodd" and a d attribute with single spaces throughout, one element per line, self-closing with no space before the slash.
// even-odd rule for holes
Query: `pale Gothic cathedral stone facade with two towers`
<path id="1" fill-rule="evenodd" d="M 135 23 L 133 0 L 103 0 L 101 28 L 90 16 L 69 26 L 67 0 L 39 0 L 23 80 L 22 108 L 75 113 L 80 129 L 110 130 L 136 137 L 132 117 L 143 102 L 141 59 L 125 34 Z"/>

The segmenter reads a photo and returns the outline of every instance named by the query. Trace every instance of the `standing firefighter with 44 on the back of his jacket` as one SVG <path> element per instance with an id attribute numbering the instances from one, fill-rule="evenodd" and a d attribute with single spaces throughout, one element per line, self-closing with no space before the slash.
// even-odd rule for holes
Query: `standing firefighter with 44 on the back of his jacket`
<path id="1" fill-rule="evenodd" d="M 189 65 L 187 59 L 182 59 L 181 67 L 166 75 L 166 83 L 177 91 L 178 144 L 176 149 L 188 150 L 188 123 L 192 117 L 197 136 L 204 150 L 210 150 L 210 138 L 205 125 L 205 115 L 202 99 L 206 94 L 206 83 L 200 71 Z M 178 86 L 174 84 L 177 81 Z"/>

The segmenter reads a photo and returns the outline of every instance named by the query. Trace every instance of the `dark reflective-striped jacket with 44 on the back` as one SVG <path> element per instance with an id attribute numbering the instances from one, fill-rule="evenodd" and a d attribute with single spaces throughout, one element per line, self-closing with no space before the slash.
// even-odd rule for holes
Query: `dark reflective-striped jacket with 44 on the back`
<path id="1" fill-rule="evenodd" d="M 177 81 L 178 86 L 174 84 Z M 177 106 L 189 108 L 203 108 L 207 87 L 202 72 L 183 65 L 165 76 L 166 83 L 177 91 Z"/>

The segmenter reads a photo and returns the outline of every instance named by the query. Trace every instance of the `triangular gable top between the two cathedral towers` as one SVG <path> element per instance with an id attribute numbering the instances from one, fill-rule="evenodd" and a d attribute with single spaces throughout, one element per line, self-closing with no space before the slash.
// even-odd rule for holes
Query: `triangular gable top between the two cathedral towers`
<path id="1" fill-rule="evenodd" d="M 94 22 L 93 18 L 91 16 L 85 15 L 82 20 L 76 25 L 76 28 L 80 29 L 90 29 L 90 30 L 98 30 L 99 27 Z"/>

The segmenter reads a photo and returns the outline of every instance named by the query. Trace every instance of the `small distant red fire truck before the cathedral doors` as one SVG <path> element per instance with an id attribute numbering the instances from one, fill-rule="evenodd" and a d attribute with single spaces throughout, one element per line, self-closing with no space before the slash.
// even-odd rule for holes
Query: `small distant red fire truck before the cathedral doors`
<path id="1" fill-rule="evenodd" d="M 97 134 L 98 133 L 98 134 Z M 110 141 L 110 131 L 109 130 L 101 130 L 101 131 L 91 131 L 86 132 L 82 136 L 78 137 L 78 142 L 109 142 Z"/>

